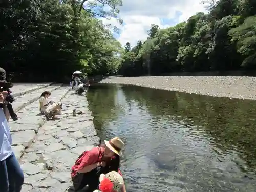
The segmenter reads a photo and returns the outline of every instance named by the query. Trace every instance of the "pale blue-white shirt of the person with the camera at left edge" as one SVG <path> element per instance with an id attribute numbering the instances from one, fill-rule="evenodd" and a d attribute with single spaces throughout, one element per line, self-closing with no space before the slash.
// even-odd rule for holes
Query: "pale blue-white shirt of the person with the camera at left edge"
<path id="1" fill-rule="evenodd" d="M 0 108 L 0 161 L 4 161 L 12 154 L 11 132 L 4 111 Z"/>

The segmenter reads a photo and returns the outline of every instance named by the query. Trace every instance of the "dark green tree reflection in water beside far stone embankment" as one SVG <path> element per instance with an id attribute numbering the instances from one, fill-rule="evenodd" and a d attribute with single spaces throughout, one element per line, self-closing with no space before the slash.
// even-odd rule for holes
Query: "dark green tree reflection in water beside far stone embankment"
<path id="1" fill-rule="evenodd" d="M 97 85 L 87 93 L 89 108 L 95 117 L 94 125 L 101 130 L 121 112 L 117 102 L 117 86 Z"/>

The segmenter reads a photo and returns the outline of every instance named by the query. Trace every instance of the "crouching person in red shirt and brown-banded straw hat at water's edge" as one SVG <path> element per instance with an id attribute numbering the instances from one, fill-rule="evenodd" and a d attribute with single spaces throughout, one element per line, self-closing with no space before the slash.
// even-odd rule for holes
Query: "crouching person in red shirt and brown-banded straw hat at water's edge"
<path id="1" fill-rule="evenodd" d="M 105 140 L 105 145 L 83 152 L 72 167 L 73 190 L 79 191 L 88 185 L 86 191 L 93 192 L 99 185 L 100 174 L 116 171 L 121 175 L 119 166 L 123 145 L 122 140 L 115 137 L 110 141 Z M 121 191 L 126 192 L 124 185 Z"/>

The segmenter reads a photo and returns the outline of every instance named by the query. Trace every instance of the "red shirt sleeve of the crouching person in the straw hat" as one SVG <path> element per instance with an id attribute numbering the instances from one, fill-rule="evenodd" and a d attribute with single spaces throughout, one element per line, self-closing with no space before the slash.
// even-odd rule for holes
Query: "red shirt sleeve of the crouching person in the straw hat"
<path id="1" fill-rule="evenodd" d="M 77 170 L 81 170 L 83 167 L 94 164 L 98 162 L 99 159 L 99 149 L 98 147 L 92 148 L 88 151 L 82 158 L 82 162 L 77 167 Z"/>

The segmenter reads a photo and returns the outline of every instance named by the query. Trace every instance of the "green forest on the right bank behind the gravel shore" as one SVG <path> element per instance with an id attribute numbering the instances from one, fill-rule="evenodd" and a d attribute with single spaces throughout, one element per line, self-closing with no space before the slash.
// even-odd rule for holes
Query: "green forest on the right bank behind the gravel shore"
<path id="1" fill-rule="evenodd" d="M 209 0 L 197 13 L 167 29 L 152 24 L 147 40 L 127 42 L 120 74 L 252 71 L 256 69 L 256 1 Z"/>

